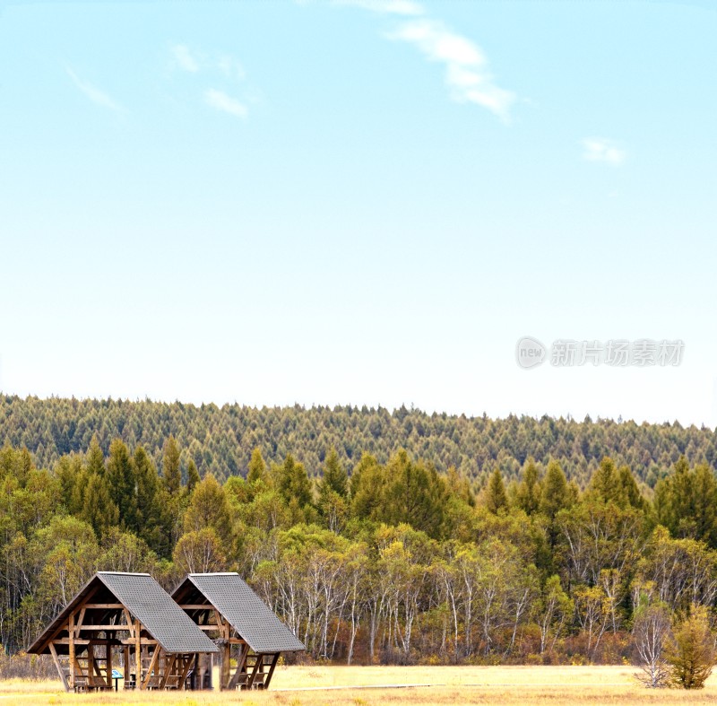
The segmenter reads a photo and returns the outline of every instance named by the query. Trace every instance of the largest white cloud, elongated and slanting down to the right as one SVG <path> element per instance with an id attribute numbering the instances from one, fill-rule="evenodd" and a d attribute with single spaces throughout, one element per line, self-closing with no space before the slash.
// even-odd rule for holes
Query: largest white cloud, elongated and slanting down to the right
<path id="1" fill-rule="evenodd" d="M 445 65 L 445 83 L 451 97 L 475 103 L 507 121 L 515 94 L 497 86 L 488 62 L 470 39 L 445 28 L 436 20 L 404 22 L 389 39 L 406 41 L 420 49 L 429 61 Z"/>

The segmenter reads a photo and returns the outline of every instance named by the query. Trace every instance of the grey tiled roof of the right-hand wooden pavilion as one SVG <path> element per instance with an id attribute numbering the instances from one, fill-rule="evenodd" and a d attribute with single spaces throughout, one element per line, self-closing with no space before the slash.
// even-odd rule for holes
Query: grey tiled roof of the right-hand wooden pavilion
<path id="1" fill-rule="evenodd" d="M 192 585 L 256 653 L 306 649 L 238 573 L 190 573 L 172 596 L 186 595 Z"/>

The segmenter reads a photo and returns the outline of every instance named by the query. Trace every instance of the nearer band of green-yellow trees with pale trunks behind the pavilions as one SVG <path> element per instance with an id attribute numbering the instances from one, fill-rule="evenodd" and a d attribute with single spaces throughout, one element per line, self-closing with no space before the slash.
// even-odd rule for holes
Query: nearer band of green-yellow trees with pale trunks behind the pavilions
<path id="1" fill-rule="evenodd" d="M 223 482 L 183 458 L 173 436 L 160 469 L 121 439 L 51 469 L 0 450 L 4 649 L 98 570 L 167 588 L 239 571 L 313 658 L 349 663 L 614 663 L 649 617 L 669 647 L 717 605 L 717 481 L 685 457 L 653 492 L 609 457 L 584 489 L 529 457 L 479 492 L 404 449 L 363 453 L 350 474 L 327 449 L 314 479 L 290 453 L 267 464 L 254 449 L 246 477 Z"/>

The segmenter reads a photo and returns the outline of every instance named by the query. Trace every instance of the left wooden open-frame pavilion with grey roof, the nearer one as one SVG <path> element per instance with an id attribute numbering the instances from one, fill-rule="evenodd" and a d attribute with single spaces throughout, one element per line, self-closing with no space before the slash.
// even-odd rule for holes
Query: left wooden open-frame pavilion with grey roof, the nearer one
<path id="1" fill-rule="evenodd" d="M 100 571 L 32 644 L 49 653 L 66 691 L 211 687 L 219 649 L 147 573 Z M 123 673 L 113 667 L 123 667 Z M 113 675 L 114 671 L 114 675 Z"/>

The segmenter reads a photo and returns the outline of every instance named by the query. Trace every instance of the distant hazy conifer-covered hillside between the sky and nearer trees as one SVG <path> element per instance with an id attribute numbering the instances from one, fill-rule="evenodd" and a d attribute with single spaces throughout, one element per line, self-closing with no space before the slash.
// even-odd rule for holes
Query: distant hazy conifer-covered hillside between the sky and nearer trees
<path id="1" fill-rule="evenodd" d="M 717 464 L 715 431 L 679 423 L 514 415 L 494 420 L 485 414 L 426 414 L 405 406 L 393 412 L 350 405 L 259 409 L 0 395 L 0 445 L 29 449 L 41 467 L 53 467 L 73 451 L 84 452 L 93 436 L 106 455 L 111 441 L 119 438 L 131 449 L 143 446 L 160 466 L 170 433 L 181 448 L 185 470 L 191 459 L 200 475 L 211 472 L 220 481 L 244 473 L 256 448 L 270 462 L 281 463 L 288 453 L 294 454 L 311 477 L 320 474 L 328 449 L 336 449 L 349 472 L 363 453 L 384 464 L 405 449 L 441 473 L 454 466 L 474 490 L 494 468 L 506 480 L 517 478 L 529 456 L 544 466 L 556 460 L 581 488 L 605 456 L 618 466 L 630 466 L 650 488 L 682 455 L 693 465 Z"/>

